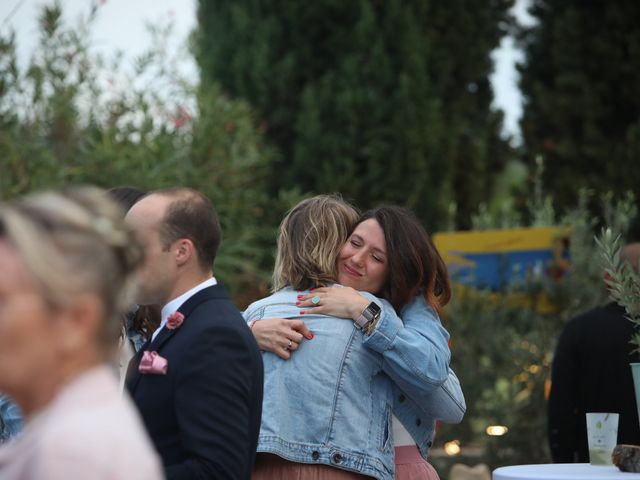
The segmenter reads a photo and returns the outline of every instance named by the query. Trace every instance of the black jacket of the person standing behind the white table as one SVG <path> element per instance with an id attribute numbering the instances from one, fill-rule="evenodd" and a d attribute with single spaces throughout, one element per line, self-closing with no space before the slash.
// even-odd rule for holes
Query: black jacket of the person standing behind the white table
<path id="1" fill-rule="evenodd" d="M 618 443 L 640 444 L 629 344 L 634 324 L 614 303 L 570 320 L 553 359 L 549 446 L 554 462 L 588 463 L 587 412 L 619 413 Z"/>

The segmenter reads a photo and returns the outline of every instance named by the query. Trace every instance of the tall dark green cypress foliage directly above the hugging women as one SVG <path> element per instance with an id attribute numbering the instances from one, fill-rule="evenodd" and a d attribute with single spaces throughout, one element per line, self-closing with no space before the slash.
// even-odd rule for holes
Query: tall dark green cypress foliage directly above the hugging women
<path id="1" fill-rule="evenodd" d="M 491 51 L 512 0 L 200 0 L 203 85 L 264 119 L 272 188 L 404 204 L 468 227 L 508 157 L 491 110 Z"/>

